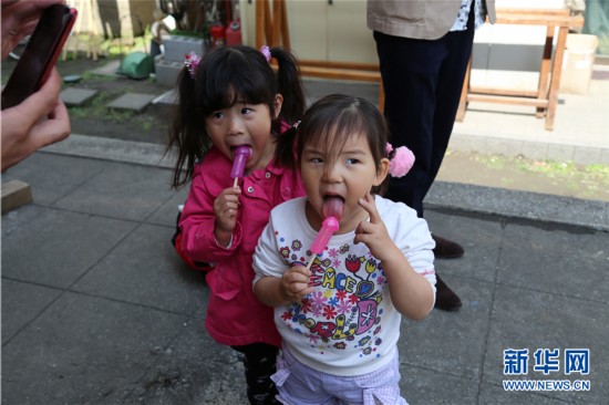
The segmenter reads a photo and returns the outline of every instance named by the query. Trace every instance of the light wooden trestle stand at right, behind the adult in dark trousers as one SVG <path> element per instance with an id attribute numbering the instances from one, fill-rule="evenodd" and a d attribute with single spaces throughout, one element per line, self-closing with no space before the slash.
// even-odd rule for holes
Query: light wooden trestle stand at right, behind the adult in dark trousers
<path id="1" fill-rule="evenodd" d="M 584 27 L 584 18 L 570 15 L 567 9 L 498 9 L 497 23 L 515 25 L 546 25 L 546 43 L 539 68 L 539 84 L 536 91 L 506 90 L 496 87 L 472 87 L 469 84 L 472 60 L 467 66 L 456 121 L 463 121 L 468 102 L 519 104 L 537 108 L 537 117 L 546 117 L 545 128 L 554 129 L 554 117 L 558 104 L 558 89 L 565 55 L 565 43 L 570 28 Z M 557 30 L 558 29 L 558 30 Z M 558 31 L 553 58 L 555 32 Z"/>

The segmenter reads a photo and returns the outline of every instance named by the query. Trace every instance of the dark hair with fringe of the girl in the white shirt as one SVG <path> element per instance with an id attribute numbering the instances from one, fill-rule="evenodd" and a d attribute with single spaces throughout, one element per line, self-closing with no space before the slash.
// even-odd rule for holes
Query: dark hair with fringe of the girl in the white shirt
<path id="1" fill-rule="evenodd" d="M 380 168 L 386 155 L 389 127 L 379 108 L 365 98 L 331 94 L 312 104 L 298 126 L 278 138 L 277 158 L 283 166 L 299 170 L 302 152 L 309 144 L 321 145 L 322 150 L 340 150 L 353 135 L 365 136 L 372 157 Z M 372 193 L 385 191 L 386 181 L 373 187 Z"/>

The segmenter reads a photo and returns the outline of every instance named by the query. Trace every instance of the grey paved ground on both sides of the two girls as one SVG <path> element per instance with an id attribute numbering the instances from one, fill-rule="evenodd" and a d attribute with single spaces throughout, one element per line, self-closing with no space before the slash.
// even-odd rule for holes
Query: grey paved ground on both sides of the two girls
<path id="1" fill-rule="evenodd" d="M 90 138 L 2 176 L 34 200 L 2 216 L 2 404 L 247 404 L 239 356 L 203 326 L 204 277 L 169 243 L 186 190 L 158 145 Z M 463 308 L 403 321 L 406 399 L 607 403 L 608 205 L 442 183 L 429 205 L 431 229 L 466 249 L 436 261 Z M 526 374 L 505 375 L 504 351 L 525 349 Z M 538 349 L 559 350 L 559 371 L 534 370 Z M 571 349 L 589 350 L 588 374 L 565 375 Z M 589 391 L 504 388 L 519 380 Z"/>

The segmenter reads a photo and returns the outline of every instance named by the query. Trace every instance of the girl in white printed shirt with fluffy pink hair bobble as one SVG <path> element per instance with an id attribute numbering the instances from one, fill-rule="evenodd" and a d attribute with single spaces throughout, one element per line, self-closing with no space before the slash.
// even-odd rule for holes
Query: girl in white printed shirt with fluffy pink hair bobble
<path id="1" fill-rule="evenodd" d="M 412 153 L 393 150 L 379 110 L 348 95 L 318 101 L 278 142 L 307 191 L 273 208 L 254 257 L 254 292 L 275 309 L 282 338 L 278 399 L 403 404 L 400 321 L 433 309 L 434 242 L 416 211 L 379 193 L 388 174 L 407 173 Z M 330 216 L 338 230 L 316 256 Z"/>

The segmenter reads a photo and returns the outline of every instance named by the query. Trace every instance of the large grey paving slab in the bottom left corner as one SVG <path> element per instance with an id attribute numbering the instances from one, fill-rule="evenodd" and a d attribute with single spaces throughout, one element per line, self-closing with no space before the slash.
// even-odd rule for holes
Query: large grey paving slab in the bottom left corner
<path id="1" fill-rule="evenodd" d="M 124 403 L 190 321 L 65 292 L 3 345 L 2 403 Z"/>

